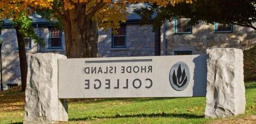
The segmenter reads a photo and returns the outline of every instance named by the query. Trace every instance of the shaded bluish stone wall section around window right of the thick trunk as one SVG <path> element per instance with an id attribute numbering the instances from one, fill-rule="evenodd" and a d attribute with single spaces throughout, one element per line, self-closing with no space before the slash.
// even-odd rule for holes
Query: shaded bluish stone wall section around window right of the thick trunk
<path id="1" fill-rule="evenodd" d="M 152 26 L 140 24 L 126 25 L 126 47 L 112 47 L 112 31 L 99 30 L 99 57 L 154 56 L 155 33 Z"/>

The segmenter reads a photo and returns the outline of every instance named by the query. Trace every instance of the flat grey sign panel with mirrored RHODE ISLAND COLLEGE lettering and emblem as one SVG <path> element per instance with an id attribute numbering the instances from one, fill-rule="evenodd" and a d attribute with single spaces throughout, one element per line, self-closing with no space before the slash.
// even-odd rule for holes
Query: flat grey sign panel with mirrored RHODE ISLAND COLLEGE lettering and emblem
<path id="1" fill-rule="evenodd" d="M 58 60 L 59 98 L 206 94 L 206 55 Z"/>

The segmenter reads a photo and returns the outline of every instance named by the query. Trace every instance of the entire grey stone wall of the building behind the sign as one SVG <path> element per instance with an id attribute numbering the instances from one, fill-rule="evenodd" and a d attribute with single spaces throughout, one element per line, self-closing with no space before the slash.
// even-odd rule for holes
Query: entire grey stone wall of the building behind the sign
<path id="1" fill-rule="evenodd" d="M 155 56 L 156 46 L 155 32 L 152 26 L 140 24 L 126 24 L 126 47 L 112 47 L 112 31 L 99 30 L 98 52 L 99 57 L 131 57 L 131 56 Z M 26 49 L 27 55 L 35 53 L 58 53 L 66 54 L 65 38 L 62 33 L 62 47 L 58 49 L 49 48 L 49 27 L 34 28 L 39 37 L 44 38 L 45 47 L 31 42 L 31 49 Z M 177 51 L 191 51 L 192 54 L 206 54 L 207 48 L 240 48 L 246 49 L 256 45 L 256 33 L 253 29 L 233 26 L 232 33 L 215 33 L 212 24 L 200 23 L 193 26 L 191 34 L 175 34 L 174 22 L 167 22 L 160 29 L 161 55 L 175 55 Z M 21 84 L 19 58 L 17 50 L 16 31 L 13 28 L 2 30 L 4 43 L 2 45 L 2 73 L 4 89 L 7 84 Z"/>

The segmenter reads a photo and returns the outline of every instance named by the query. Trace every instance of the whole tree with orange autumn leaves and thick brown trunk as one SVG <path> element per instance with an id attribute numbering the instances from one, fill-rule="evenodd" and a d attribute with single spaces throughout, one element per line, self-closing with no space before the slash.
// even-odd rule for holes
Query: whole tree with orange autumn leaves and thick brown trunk
<path id="1" fill-rule="evenodd" d="M 68 58 L 97 57 L 98 28 L 117 30 L 126 20 L 126 4 L 148 2 L 166 7 L 192 0 L 0 0 L 0 18 L 15 17 L 21 11 L 31 14 L 37 9 L 49 10 L 63 24 Z"/>

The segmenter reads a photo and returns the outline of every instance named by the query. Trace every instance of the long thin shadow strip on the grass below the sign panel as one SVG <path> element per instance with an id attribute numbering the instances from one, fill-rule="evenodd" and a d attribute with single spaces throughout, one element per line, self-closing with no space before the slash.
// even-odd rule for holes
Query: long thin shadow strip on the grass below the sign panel
<path id="1" fill-rule="evenodd" d="M 181 113 L 181 114 L 166 114 L 166 113 L 152 113 L 152 114 L 132 114 L 132 115 L 120 115 L 116 114 L 114 116 L 88 116 L 83 118 L 71 118 L 69 121 L 81 121 L 81 120 L 95 120 L 95 119 L 103 119 L 103 118 L 129 118 L 129 117 L 178 117 L 178 118 L 204 118 L 204 115 L 195 115 L 195 114 L 187 114 L 187 113 Z"/>

